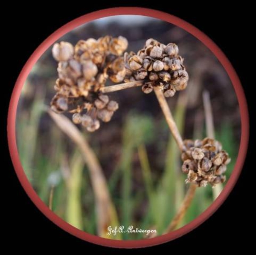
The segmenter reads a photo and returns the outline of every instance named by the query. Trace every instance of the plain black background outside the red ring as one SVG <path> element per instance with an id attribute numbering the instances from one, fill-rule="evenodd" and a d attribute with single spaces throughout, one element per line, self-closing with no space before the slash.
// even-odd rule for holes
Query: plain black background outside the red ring
<path id="1" fill-rule="evenodd" d="M 256 84 L 253 80 L 255 74 L 253 74 L 253 70 L 250 70 L 253 65 L 249 64 L 249 60 L 252 59 L 252 54 L 255 54 L 255 46 L 251 48 L 249 45 L 252 42 L 251 34 L 255 29 L 251 27 L 253 16 L 250 14 L 250 9 L 252 7 L 248 6 L 246 2 L 240 3 L 240 5 L 233 4 L 229 8 L 225 8 L 217 2 L 207 2 L 203 6 L 199 6 L 199 3 L 187 5 L 181 1 L 157 1 L 157 5 L 150 5 L 149 3 L 143 5 L 143 1 L 135 3 L 120 1 L 115 5 L 113 5 L 113 1 L 111 1 L 112 5 L 106 1 L 104 3 L 94 2 L 95 6 L 88 6 L 87 1 L 82 3 L 73 1 L 67 4 L 58 3 L 56 8 L 46 2 L 37 3 L 37 7 L 26 6 L 25 4 L 6 7 L 9 18 L 4 22 L 2 21 L 3 37 L 1 39 L 2 53 L 6 54 L 6 57 L 2 58 L 2 64 L 6 68 L 2 71 L 6 71 L 1 72 L 1 74 L 2 77 L 9 77 L 10 82 L 2 81 L 0 84 L 3 99 L 6 99 L 4 128 L 6 127 L 9 98 L 15 80 L 26 60 L 38 45 L 52 32 L 74 18 L 91 11 L 116 6 L 148 7 L 169 12 L 207 34 L 233 64 L 244 87 L 249 109 L 252 109 L 251 99 L 255 95 L 252 92 L 252 86 L 256 86 Z M 2 9 L 2 11 L 5 10 Z M 252 139 L 251 136 L 250 140 L 252 141 Z M 103 254 L 121 252 L 119 249 L 96 246 L 75 238 L 49 221 L 34 206 L 21 187 L 9 157 L 7 139 L 4 140 L 4 145 L 7 156 L 2 157 L 8 161 L 8 165 L 2 167 L 1 170 L 8 175 L 9 179 L 6 181 L 5 177 L 2 176 L 1 211 L 5 215 L 2 218 L 2 223 L 3 225 L 7 224 L 7 227 L 1 230 L 6 242 L 13 243 L 13 245 L 9 245 L 9 251 L 18 247 L 20 252 L 71 250 L 73 253 L 88 253 L 91 249 L 93 252 L 100 251 Z M 255 152 L 251 143 L 247 156 L 252 155 L 253 150 Z M 255 166 L 250 166 L 247 158 L 239 181 L 228 199 L 212 217 L 197 229 L 169 243 L 144 250 L 140 249 L 137 252 L 149 252 L 149 249 L 158 252 L 159 249 L 165 249 L 168 253 L 187 251 L 201 254 L 208 251 L 223 252 L 228 250 L 230 252 L 234 248 L 249 249 L 251 243 L 247 229 L 252 227 L 253 222 L 255 223 L 251 214 L 255 198 L 252 198 L 253 194 L 249 190 L 251 184 L 248 183 L 248 180 L 249 175 L 250 179 L 253 180 L 254 171 L 256 171 Z M 252 230 L 254 231 L 254 229 Z"/>

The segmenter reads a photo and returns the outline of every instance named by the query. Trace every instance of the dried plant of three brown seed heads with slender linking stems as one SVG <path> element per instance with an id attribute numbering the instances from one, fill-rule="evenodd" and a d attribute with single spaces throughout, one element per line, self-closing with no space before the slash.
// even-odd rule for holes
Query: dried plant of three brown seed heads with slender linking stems
<path id="1" fill-rule="evenodd" d="M 180 149 L 186 183 L 190 183 L 180 210 L 166 229 L 170 232 L 185 215 L 196 187 L 208 183 L 215 186 L 225 181 L 224 172 L 230 158 L 213 137 L 195 141 L 181 138 L 166 102 L 166 97 L 185 89 L 189 80 L 178 46 L 148 39 L 137 54 L 125 52 L 127 47 L 128 41 L 122 36 L 80 40 L 76 46 L 67 42 L 56 43 L 52 54 L 59 61 L 59 78 L 51 106 L 57 113 L 72 112 L 74 123 L 81 123 L 87 131 L 93 132 L 100 127 L 99 119 L 110 121 L 119 108 L 118 103 L 105 93 L 137 86 L 142 86 L 146 94 L 154 90 Z M 105 86 L 108 79 L 113 83 L 123 83 Z"/>

